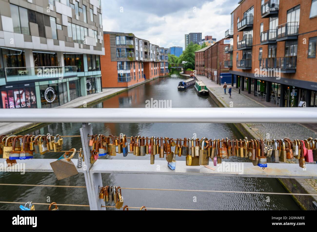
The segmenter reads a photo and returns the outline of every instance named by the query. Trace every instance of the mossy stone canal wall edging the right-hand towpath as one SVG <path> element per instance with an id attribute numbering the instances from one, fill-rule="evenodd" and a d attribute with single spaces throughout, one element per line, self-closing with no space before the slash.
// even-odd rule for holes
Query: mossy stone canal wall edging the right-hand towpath
<path id="1" fill-rule="evenodd" d="M 214 101 L 218 107 L 228 107 L 228 105 L 219 98 L 216 94 L 213 93 L 211 89 L 208 88 L 209 96 Z M 255 131 L 252 130 L 245 123 L 232 123 L 236 129 L 244 136 L 248 138 L 257 138 L 259 137 Z M 270 161 L 268 161 L 269 163 Z M 304 179 L 286 179 L 286 178 L 277 178 L 281 185 L 289 193 L 305 193 L 305 194 L 316 194 L 316 190 L 310 185 L 309 181 Z M 294 201 L 301 207 L 303 210 L 317 210 L 317 196 L 307 196 L 307 195 L 292 195 Z M 315 202 L 315 203 L 314 203 Z"/>

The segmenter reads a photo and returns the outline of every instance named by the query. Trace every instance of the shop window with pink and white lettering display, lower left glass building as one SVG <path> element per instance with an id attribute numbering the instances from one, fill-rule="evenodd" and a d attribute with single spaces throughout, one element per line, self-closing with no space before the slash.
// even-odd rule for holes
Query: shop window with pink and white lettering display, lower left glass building
<path id="1" fill-rule="evenodd" d="M 37 108 L 34 87 L 1 91 L 4 109 Z"/>

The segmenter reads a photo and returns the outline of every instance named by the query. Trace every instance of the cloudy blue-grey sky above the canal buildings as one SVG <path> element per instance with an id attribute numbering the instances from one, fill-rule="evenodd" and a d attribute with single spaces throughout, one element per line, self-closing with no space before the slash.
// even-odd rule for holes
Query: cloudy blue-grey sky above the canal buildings
<path id="1" fill-rule="evenodd" d="M 103 30 L 133 33 L 161 47 L 181 46 L 184 34 L 217 41 L 230 28 L 238 0 L 101 0 Z"/>

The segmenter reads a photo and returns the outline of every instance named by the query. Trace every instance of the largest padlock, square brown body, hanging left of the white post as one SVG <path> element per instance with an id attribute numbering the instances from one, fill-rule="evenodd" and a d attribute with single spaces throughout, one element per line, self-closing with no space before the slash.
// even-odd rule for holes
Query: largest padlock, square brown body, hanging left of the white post
<path id="1" fill-rule="evenodd" d="M 78 174 L 74 163 L 71 161 L 76 154 L 76 149 L 72 148 L 70 151 L 72 151 L 70 156 L 68 156 L 70 152 L 65 152 L 58 160 L 50 163 L 57 180 Z"/>

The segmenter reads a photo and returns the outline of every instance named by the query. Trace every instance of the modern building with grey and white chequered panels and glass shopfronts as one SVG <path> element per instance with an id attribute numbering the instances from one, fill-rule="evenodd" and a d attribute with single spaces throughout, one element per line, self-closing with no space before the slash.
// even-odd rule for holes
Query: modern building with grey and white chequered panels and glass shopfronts
<path id="1" fill-rule="evenodd" d="M 51 108 L 101 92 L 100 0 L 0 1 L 1 108 Z"/>

